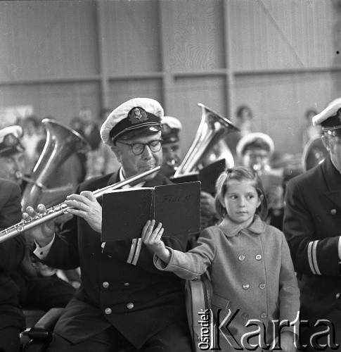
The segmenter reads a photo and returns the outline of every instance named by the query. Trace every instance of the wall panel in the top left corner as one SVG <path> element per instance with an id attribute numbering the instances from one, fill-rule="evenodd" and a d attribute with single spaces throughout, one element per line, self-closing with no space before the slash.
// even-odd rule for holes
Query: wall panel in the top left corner
<path id="1" fill-rule="evenodd" d="M 95 1 L 1 1 L 0 81 L 98 73 Z"/>

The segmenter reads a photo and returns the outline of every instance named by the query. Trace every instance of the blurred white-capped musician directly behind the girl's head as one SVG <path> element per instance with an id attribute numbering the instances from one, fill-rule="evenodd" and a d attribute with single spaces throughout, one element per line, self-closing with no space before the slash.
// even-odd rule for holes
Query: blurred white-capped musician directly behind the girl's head
<path id="1" fill-rule="evenodd" d="M 237 162 L 256 171 L 262 181 L 269 208 L 266 223 L 282 230 L 284 170 L 271 168 L 270 160 L 274 149 L 274 141 L 268 134 L 252 132 L 240 139 L 236 146 L 236 153 Z"/>

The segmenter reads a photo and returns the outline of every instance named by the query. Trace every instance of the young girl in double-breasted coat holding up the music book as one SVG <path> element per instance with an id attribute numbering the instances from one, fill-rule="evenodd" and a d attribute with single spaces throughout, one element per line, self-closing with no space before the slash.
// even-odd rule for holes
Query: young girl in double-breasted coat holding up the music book
<path id="1" fill-rule="evenodd" d="M 278 334 L 280 348 L 295 351 L 297 331 L 293 326 L 279 329 L 278 320 L 297 318 L 297 280 L 283 232 L 262 220 L 267 206 L 257 175 L 243 167 L 223 172 L 217 180 L 216 208 L 223 220 L 203 230 L 198 246 L 187 253 L 165 247 L 162 224 L 154 229 L 155 220 L 147 222 L 142 239 L 155 252 L 155 266 L 187 280 L 209 271 L 212 312 L 216 321 L 219 312 L 217 324 L 222 325 L 222 351 L 273 348 Z M 250 339 L 255 331 L 258 334 Z"/>

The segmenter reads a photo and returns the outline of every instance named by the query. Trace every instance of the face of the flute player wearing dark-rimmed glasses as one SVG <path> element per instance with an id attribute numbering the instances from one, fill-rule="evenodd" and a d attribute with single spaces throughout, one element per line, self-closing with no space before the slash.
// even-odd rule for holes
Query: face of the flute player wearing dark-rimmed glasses
<path id="1" fill-rule="evenodd" d="M 122 142 L 128 144 L 149 143 L 157 139 L 161 139 L 161 131 L 148 136 L 134 137 L 127 142 Z M 135 155 L 131 150 L 131 146 L 123 143 L 117 141 L 117 144 L 112 146 L 112 151 L 114 151 L 117 160 L 122 164 L 124 177 L 131 177 L 161 165 L 162 149 L 153 152 L 150 150 L 149 146 L 145 146 L 140 155 Z M 151 180 L 153 177 L 155 177 L 155 173 L 146 176 L 143 180 Z"/>

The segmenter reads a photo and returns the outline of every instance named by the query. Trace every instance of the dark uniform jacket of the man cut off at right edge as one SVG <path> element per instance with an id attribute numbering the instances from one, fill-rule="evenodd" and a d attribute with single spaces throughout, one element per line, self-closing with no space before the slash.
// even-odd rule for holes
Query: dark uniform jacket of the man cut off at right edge
<path id="1" fill-rule="evenodd" d="M 288 182 L 283 232 L 301 291 L 304 319 L 314 322 L 341 307 L 341 175 L 330 161 Z"/>

